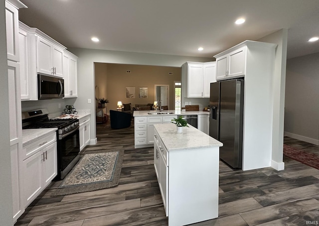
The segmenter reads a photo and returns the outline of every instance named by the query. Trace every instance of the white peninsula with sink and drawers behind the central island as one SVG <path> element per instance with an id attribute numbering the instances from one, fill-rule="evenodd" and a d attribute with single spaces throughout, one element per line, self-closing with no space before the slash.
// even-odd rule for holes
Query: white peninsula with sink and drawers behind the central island
<path id="1" fill-rule="evenodd" d="M 208 134 L 209 112 L 207 111 L 134 111 L 135 148 L 153 147 L 154 124 L 171 123 L 177 115 L 197 115 L 198 130 Z"/>

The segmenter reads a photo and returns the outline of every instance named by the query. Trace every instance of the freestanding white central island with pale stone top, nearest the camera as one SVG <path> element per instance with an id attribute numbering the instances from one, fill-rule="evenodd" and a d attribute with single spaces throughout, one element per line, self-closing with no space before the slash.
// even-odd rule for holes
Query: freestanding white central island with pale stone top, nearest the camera
<path id="1" fill-rule="evenodd" d="M 154 166 L 168 225 L 218 217 L 219 147 L 222 143 L 189 126 L 154 125 Z"/>

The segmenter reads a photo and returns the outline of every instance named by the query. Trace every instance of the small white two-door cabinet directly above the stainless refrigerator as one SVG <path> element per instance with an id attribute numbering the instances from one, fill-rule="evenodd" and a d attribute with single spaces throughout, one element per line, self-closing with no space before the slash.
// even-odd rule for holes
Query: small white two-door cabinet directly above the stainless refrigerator
<path id="1" fill-rule="evenodd" d="M 246 46 L 216 55 L 216 80 L 243 77 L 246 74 Z"/>

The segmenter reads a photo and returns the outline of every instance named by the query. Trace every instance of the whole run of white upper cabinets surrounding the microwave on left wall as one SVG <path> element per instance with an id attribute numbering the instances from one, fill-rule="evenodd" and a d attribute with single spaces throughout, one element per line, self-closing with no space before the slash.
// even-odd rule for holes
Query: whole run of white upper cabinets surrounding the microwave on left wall
<path id="1" fill-rule="evenodd" d="M 65 97 L 77 97 L 77 56 L 36 28 L 19 22 L 21 100 L 37 100 L 37 73 L 63 77 Z"/>

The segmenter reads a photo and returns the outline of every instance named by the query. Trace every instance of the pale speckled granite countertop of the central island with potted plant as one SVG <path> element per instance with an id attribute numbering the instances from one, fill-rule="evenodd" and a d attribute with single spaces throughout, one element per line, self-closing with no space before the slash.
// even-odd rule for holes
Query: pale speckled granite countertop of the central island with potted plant
<path id="1" fill-rule="evenodd" d="M 183 133 L 177 133 L 176 126 L 173 123 L 154 125 L 168 152 L 223 146 L 221 142 L 189 124 L 188 126 L 183 128 Z"/>

